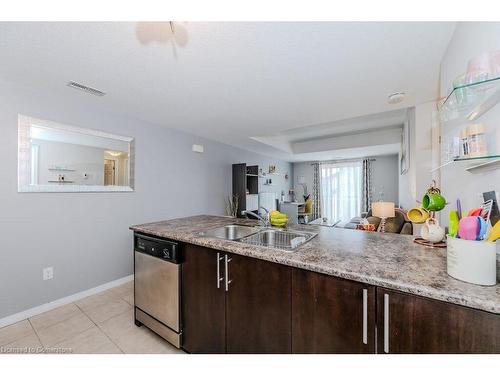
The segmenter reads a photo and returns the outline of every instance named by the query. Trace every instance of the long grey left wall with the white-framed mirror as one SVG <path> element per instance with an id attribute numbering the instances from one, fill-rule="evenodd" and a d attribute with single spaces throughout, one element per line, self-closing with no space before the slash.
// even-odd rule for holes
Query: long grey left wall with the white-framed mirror
<path id="1" fill-rule="evenodd" d="M 0 318 L 130 275 L 130 225 L 224 214 L 232 163 L 276 164 L 291 175 L 290 163 L 100 111 L 102 98 L 5 82 L 0 97 Z M 135 137 L 135 191 L 18 193 L 19 113 Z M 205 153 L 192 152 L 193 143 Z M 54 279 L 44 282 L 50 265 Z"/>

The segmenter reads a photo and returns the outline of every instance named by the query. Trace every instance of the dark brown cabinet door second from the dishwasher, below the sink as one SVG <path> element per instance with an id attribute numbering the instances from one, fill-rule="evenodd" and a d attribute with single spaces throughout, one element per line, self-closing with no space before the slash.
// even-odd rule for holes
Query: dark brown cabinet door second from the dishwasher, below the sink
<path id="1" fill-rule="evenodd" d="M 291 269 L 228 254 L 228 353 L 290 353 Z"/>

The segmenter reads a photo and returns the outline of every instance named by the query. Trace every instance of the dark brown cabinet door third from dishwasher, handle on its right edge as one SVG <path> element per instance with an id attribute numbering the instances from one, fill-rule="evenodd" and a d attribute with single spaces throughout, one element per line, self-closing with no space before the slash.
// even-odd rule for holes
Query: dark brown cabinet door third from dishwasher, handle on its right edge
<path id="1" fill-rule="evenodd" d="M 375 288 L 294 269 L 292 351 L 374 353 Z"/>

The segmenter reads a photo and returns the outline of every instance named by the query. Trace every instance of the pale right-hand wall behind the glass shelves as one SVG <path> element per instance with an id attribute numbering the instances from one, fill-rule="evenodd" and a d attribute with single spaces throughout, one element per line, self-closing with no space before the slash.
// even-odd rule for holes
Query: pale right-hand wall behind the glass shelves
<path id="1" fill-rule="evenodd" d="M 459 23 L 441 63 L 441 95 L 449 93 L 452 81 L 466 71 L 469 59 L 491 50 L 500 50 L 500 23 Z M 481 122 L 487 127 L 489 152 L 500 154 L 500 105 L 476 122 Z M 465 125 L 467 123 L 455 126 L 458 129 Z M 462 209 L 470 209 L 482 202 L 481 193 L 484 191 L 496 190 L 498 196 L 500 170 L 471 174 L 461 165 L 453 165 L 441 170 L 441 185 L 448 201 L 455 202 L 460 198 Z M 446 211 L 442 217 L 447 217 Z"/>

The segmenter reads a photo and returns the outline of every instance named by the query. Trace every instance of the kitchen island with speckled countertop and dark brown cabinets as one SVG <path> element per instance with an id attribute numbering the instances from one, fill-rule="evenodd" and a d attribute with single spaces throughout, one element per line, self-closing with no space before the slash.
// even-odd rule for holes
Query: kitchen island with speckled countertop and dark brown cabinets
<path id="1" fill-rule="evenodd" d="M 256 222 L 201 215 L 131 227 L 136 232 L 186 244 L 184 289 L 190 282 L 192 285 L 196 282 L 203 284 L 201 279 L 190 279 L 195 274 L 199 278 L 204 277 L 199 269 L 202 264 L 196 263 L 202 257 L 207 258 L 209 265 L 217 265 L 219 280 L 220 268 L 228 267 L 229 256 L 232 262 L 230 267 L 233 267 L 231 276 L 226 274 L 220 277 L 232 282 L 226 288 L 227 295 L 217 297 L 214 294 L 209 298 L 211 301 L 206 301 L 206 307 L 211 306 L 212 309 L 225 304 L 224 313 L 220 311 L 218 314 L 225 316 L 226 324 L 218 328 L 220 340 L 217 344 L 220 347 L 215 352 L 500 351 L 500 287 L 482 287 L 451 278 L 446 273 L 446 251 L 443 249 L 419 246 L 413 243 L 412 236 L 309 225 L 291 226 L 290 229 L 317 233 L 312 240 L 292 252 L 200 235 L 208 229 L 230 224 L 255 225 Z M 212 261 L 215 256 L 217 260 Z M 252 267 L 255 272 L 252 272 Z M 208 272 L 205 281 L 215 284 L 212 283 L 215 272 L 215 268 L 213 272 Z M 248 290 L 242 289 L 245 284 Z M 232 295 L 227 293 L 231 287 L 234 288 Z M 196 301 L 206 299 L 203 296 L 211 293 L 210 289 L 205 289 L 190 295 L 194 289 L 193 286 L 189 291 L 183 291 L 186 342 L 189 341 L 189 322 L 203 320 L 201 311 L 189 317 L 191 311 L 186 309 L 196 310 L 199 307 L 194 306 L 198 305 Z M 256 297 L 259 292 L 269 295 L 269 298 Z M 240 298 L 236 297 L 238 294 Z M 219 304 L 216 303 L 217 298 L 220 298 Z M 252 298 L 260 306 L 250 305 Z M 362 301 L 359 307 L 351 306 L 358 299 Z M 278 308 L 281 309 L 279 314 L 282 319 L 273 316 L 276 310 L 276 306 L 271 306 L 273 300 L 282 302 Z M 338 305 L 338 300 L 344 302 Z M 231 308 L 228 308 L 228 303 Z M 311 308 L 316 305 L 321 308 Z M 254 329 L 248 328 L 252 327 L 252 322 L 247 322 L 247 326 L 239 323 L 240 318 L 252 318 L 253 315 L 247 316 L 247 312 L 255 315 L 259 310 L 270 315 L 267 319 L 265 316 L 259 318 L 260 323 L 255 323 Z M 207 321 L 217 316 L 217 313 L 214 314 L 207 317 Z M 331 319 L 337 322 L 333 324 Z M 248 338 L 251 332 L 261 329 L 263 321 L 269 323 L 267 329 L 278 342 L 267 342 L 258 332 L 253 339 Z M 285 324 L 279 327 L 282 321 Z M 346 339 L 345 333 L 341 332 L 342 321 L 345 321 L 345 329 L 361 332 L 356 332 L 355 338 L 361 343 L 359 346 L 350 345 L 351 338 Z M 351 321 L 356 321 L 356 324 Z M 288 322 L 291 329 L 283 332 Z M 254 340 L 255 345 L 246 347 L 237 341 L 238 335 L 228 338 L 228 325 L 233 327 L 231 332 L 246 335 L 247 341 Z M 197 330 L 203 327 L 199 325 Z M 273 329 L 277 329 L 276 332 L 272 332 Z M 434 340 L 433 337 L 421 337 L 417 331 L 433 334 L 435 342 L 429 342 Z M 328 334 L 323 337 L 322 332 Z M 472 341 L 464 338 L 464 335 L 471 335 L 470 332 L 477 335 L 469 337 Z M 213 332 L 207 333 L 208 336 L 211 334 Z M 343 336 L 343 341 L 332 339 L 335 334 Z M 195 342 L 196 339 L 199 338 L 195 338 Z M 190 351 L 210 351 L 200 344 L 203 338 L 200 340 Z M 232 340 L 236 341 L 231 344 Z M 445 346 L 443 340 L 447 341 Z M 451 343 L 450 340 L 454 341 Z M 288 342 L 290 350 L 287 349 Z M 212 346 L 217 344 L 211 342 Z M 229 346 L 234 350 L 228 350 Z"/>

